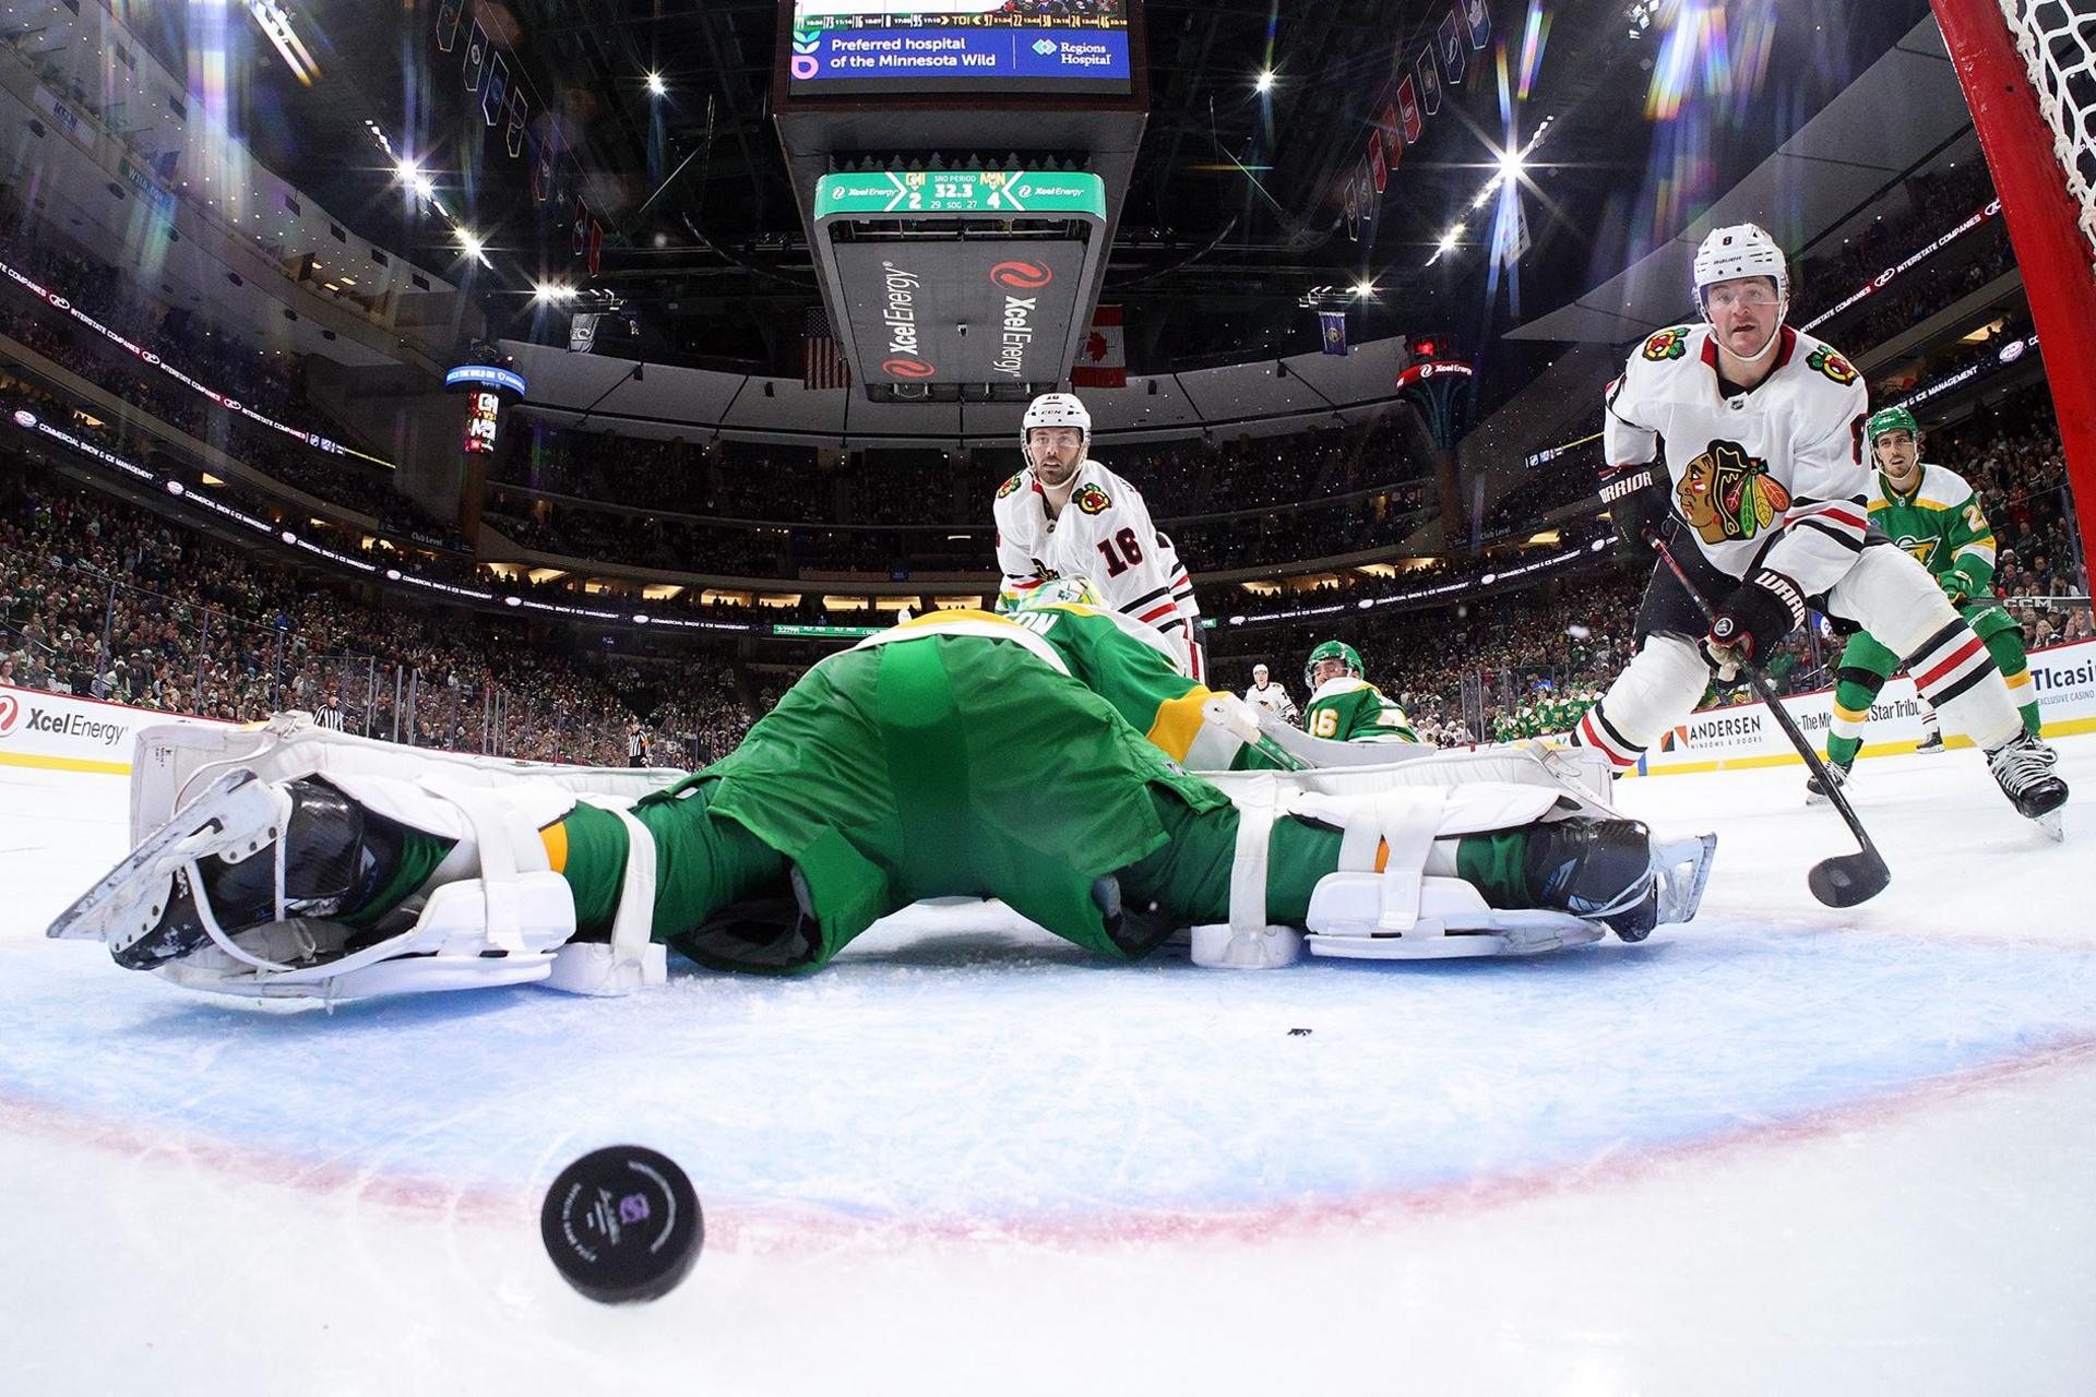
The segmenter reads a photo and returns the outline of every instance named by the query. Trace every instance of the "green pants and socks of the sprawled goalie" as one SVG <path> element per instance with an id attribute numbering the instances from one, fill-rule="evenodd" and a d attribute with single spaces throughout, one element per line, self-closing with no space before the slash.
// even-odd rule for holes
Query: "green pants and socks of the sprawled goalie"
<path id="1" fill-rule="evenodd" d="M 1117 961 L 1230 919 L 1230 798 L 1144 741 L 1042 641 L 1017 626 L 889 637 L 824 660 L 734 754 L 633 806 L 654 840 L 656 940 L 717 970 L 792 974 L 933 896 L 998 896 Z M 543 838 L 578 932 L 602 934 L 618 911 L 623 821 L 576 806 Z M 1302 926 L 1344 840 L 1276 819 L 1266 917 Z M 1471 825 L 1436 840 L 1421 871 L 1530 907 L 1526 848 L 1524 827 Z M 417 842 L 390 896 L 446 855 Z"/>

